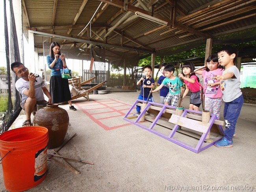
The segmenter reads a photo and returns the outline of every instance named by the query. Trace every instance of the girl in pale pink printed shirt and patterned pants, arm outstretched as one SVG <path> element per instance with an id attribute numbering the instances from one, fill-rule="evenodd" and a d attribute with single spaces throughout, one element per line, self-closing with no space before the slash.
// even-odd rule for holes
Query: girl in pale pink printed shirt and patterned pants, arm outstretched
<path id="1" fill-rule="evenodd" d="M 217 54 L 210 55 L 206 62 L 207 68 L 195 73 L 203 76 L 205 110 L 215 114 L 219 119 L 222 103 L 221 82 L 213 77 L 222 75 L 223 66 L 219 65 Z"/>

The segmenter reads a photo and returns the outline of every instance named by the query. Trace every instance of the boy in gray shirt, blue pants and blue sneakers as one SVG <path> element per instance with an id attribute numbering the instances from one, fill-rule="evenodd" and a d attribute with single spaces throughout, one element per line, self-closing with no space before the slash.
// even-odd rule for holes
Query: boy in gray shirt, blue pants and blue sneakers
<path id="1" fill-rule="evenodd" d="M 236 128 L 236 121 L 243 105 L 243 95 L 240 90 L 240 72 L 234 61 L 236 61 L 237 52 L 235 48 L 225 46 L 218 52 L 219 64 L 225 67 L 222 76 L 216 76 L 215 79 L 221 81 L 221 91 L 223 93 L 224 119 L 226 129 L 224 137 L 214 145 L 220 148 L 232 147 L 233 136 Z"/>

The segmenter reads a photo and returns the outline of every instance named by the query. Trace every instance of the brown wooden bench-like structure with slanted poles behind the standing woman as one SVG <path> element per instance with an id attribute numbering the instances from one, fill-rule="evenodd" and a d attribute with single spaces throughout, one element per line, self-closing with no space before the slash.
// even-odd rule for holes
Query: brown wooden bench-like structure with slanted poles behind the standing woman
<path id="1" fill-rule="evenodd" d="M 75 87 L 77 90 L 79 90 L 79 94 L 76 96 L 72 96 L 71 100 L 80 98 L 80 97 L 84 97 L 87 99 L 87 101 L 89 101 L 89 92 L 101 87 L 105 82 L 107 81 L 103 81 L 102 83 L 98 83 L 97 85 L 95 85 L 94 87 L 91 87 L 88 90 L 83 89 L 81 86 L 85 85 L 86 83 L 89 83 L 91 81 L 93 81 L 93 79 L 95 79 L 96 77 L 93 77 L 91 79 L 88 79 L 86 81 L 83 81 L 81 83 L 80 78 L 79 77 L 73 77 L 72 79 L 69 79 L 69 85 L 72 85 L 73 87 Z"/>

